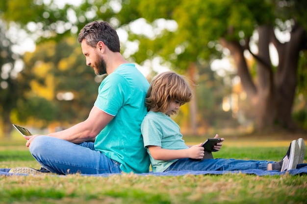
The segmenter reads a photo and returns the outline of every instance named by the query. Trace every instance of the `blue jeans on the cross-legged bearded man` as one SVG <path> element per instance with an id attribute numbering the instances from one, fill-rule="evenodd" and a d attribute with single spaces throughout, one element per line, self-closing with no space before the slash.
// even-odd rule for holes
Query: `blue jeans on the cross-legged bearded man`
<path id="1" fill-rule="evenodd" d="M 51 136 L 37 136 L 30 145 L 32 156 L 56 174 L 120 173 L 120 163 L 94 149 L 94 142 L 75 144 Z"/>

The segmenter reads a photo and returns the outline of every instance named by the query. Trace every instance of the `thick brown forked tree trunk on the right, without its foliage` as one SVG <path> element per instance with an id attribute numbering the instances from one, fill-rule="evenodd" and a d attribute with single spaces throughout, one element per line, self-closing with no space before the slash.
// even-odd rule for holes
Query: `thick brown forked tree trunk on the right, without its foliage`
<path id="1" fill-rule="evenodd" d="M 292 106 L 297 83 L 299 52 L 302 49 L 305 30 L 296 28 L 291 32 L 291 40 L 281 44 L 271 26 L 258 28 L 258 55 L 256 59 L 257 77 L 253 81 L 239 42 L 220 39 L 221 45 L 230 50 L 241 79 L 242 86 L 251 100 L 256 114 L 256 129 L 259 132 L 270 130 L 275 125 L 292 129 Z M 279 54 L 279 66 L 273 71 L 269 55 L 269 44 L 273 43 Z M 247 45 L 249 46 L 249 45 Z"/>

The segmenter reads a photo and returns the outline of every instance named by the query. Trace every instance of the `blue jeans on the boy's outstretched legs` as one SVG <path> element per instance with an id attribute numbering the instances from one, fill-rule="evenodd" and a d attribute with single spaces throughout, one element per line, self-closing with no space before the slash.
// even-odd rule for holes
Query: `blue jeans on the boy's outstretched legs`
<path id="1" fill-rule="evenodd" d="M 250 169 L 267 170 L 267 164 L 274 161 L 239 160 L 239 159 L 178 159 L 166 171 L 243 171 Z"/>

